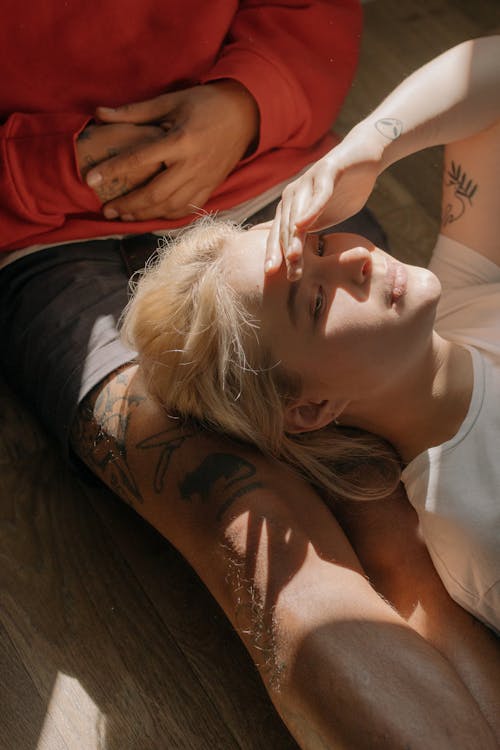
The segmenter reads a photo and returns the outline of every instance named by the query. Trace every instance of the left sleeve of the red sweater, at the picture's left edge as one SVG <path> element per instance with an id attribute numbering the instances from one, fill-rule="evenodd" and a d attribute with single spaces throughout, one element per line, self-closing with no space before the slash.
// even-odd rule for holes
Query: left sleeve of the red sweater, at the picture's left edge
<path id="1" fill-rule="evenodd" d="M 82 114 L 12 114 L 0 127 L 2 245 L 64 224 L 68 214 L 98 212 L 95 193 L 81 180 L 75 140 Z"/>

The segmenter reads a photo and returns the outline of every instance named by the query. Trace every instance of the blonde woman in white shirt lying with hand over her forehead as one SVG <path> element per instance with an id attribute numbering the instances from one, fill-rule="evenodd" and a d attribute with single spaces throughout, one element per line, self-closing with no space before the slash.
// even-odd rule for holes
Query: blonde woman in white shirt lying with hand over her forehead
<path id="1" fill-rule="evenodd" d="M 201 226 L 168 248 L 124 322 L 170 413 L 351 499 L 368 496 L 360 460 L 379 466 L 375 497 L 394 489 L 401 461 L 446 588 L 496 630 L 499 60 L 491 37 L 418 70 L 287 188 L 271 230 Z M 438 143 L 448 146 L 432 270 L 321 234 L 385 167 Z"/>

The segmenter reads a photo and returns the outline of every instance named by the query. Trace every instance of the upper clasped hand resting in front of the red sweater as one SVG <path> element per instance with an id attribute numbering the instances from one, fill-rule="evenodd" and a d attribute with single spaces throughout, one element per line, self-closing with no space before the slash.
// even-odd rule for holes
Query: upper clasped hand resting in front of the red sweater
<path id="1" fill-rule="evenodd" d="M 87 184 L 104 195 L 115 183 L 130 184 L 138 172 L 149 175 L 145 185 L 106 204 L 107 218 L 125 221 L 174 219 L 202 207 L 256 140 L 259 125 L 255 100 L 232 80 L 117 109 L 100 107 L 97 115 L 106 123 L 149 124 L 161 134 L 131 144 L 87 174 Z"/>

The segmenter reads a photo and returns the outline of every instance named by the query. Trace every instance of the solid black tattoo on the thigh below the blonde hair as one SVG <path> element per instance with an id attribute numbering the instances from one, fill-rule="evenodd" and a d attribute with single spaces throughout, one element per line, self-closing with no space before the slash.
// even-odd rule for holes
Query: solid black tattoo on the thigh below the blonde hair
<path id="1" fill-rule="evenodd" d="M 179 485 L 181 497 L 190 502 L 198 496 L 202 503 L 206 503 L 214 485 L 222 480 L 222 494 L 229 492 L 229 497 L 217 511 L 216 517 L 220 520 L 238 498 L 262 487 L 262 483 L 254 479 L 255 474 L 255 466 L 239 456 L 232 453 L 212 453 L 196 469 L 186 474 Z"/>

